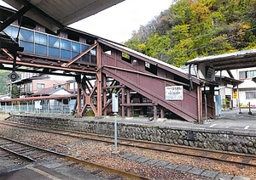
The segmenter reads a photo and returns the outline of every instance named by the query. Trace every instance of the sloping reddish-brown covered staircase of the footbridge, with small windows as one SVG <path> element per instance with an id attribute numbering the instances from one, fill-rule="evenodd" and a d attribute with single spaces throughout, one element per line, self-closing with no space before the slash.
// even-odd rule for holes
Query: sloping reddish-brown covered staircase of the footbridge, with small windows
<path id="1" fill-rule="evenodd" d="M 199 80 L 184 71 L 112 42 L 102 43 L 102 73 L 186 121 L 198 121 Z M 166 100 L 166 87 L 183 87 L 183 99 Z M 195 87 L 195 88 L 194 88 Z M 196 104 L 196 105 L 195 105 Z M 131 102 L 122 104 L 132 106 Z"/>

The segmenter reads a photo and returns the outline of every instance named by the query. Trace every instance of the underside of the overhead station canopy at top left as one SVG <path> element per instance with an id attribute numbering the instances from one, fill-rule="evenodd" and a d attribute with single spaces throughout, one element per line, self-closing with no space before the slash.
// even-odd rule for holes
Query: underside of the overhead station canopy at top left
<path id="1" fill-rule="evenodd" d="M 124 0 L 3 0 L 52 31 L 73 24 Z"/>

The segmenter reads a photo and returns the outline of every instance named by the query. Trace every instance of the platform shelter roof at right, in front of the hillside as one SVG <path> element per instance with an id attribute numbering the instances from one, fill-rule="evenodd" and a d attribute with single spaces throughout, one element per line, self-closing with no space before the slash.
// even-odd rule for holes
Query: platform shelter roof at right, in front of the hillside
<path id="1" fill-rule="evenodd" d="M 187 61 L 186 65 L 199 65 L 201 63 L 208 63 L 215 70 L 235 70 L 256 67 L 256 49 L 199 57 Z"/>

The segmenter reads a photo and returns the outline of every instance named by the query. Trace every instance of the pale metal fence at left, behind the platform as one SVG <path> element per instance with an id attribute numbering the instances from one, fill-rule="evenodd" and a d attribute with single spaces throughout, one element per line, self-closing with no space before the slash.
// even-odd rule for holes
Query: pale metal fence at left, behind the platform
<path id="1" fill-rule="evenodd" d="M 34 104 L 1 105 L 0 110 L 7 113 L 34 113 L 34 114 L 71 114 L 72 107 L 69 104 L 40 105 Z"/>

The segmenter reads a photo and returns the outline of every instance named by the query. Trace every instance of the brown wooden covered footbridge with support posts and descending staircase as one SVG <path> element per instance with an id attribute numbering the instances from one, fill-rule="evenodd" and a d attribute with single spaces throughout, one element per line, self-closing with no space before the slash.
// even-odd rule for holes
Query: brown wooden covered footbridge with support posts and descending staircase
<path id="1" fill-rule="evenodd" d="M 19 11 L 18 11 L 19 12 Z M 1 13 L 6 14 L 2 21 L 8 20 L 16 11 L 1 7 Z M 13 20 L 13 25 L 37 24 L 29 17 L 24 17 L 25 23 Z M 15 24 L 16 23 L 16 24 Z M 10 25 L 10 24 L 9 24 Z M 34 35 L 40 33 L 35 25 Z M 40 26 L 42 30 L 42 27 Z M 4 28 L 3 28 L 4 29 Z M 54 36 L 44 27 L 47 38 Z M 22 30 L 22 28 L 21 28 Z M 96 117 L 108 115 L 111 111 L 112 93 L 119 95 L 119 115 L 131 116 L 132 110 L 140 110 L 142 115 L 148 107 L 153 110 L 154 119 L 164 117 L 166 112 L 177 115 L 185 121 L 202 121 L 203 101 L 201 82 L 177 67 L 160 60 L 150 58 L 126 48 L 124 45 L 111 42 L 101 37 L 90 35 L 83 31 L 65 27 L 57 31 L 61 38 L 84 42 L 86 48 L 81 49 L 71 59 L 49 56 L 49 44 L 45 45 L 47 53 L 38 54 L 36 40 L 31 42 L 36 49 L 21 47 L 24 41 L 15 41 L 1 30 L 0 68 L 3 70 L 27 71 L 61 76 L 74 76 L 78 83 L 76 110 L 79 116 L 85 115 L 90 108 Z M 36 37 L 34 37 L 36 38 Z M 76 41 L 74 41 L 76 40 Z M 63 40 L 64 41 L 64 40 Z M 81 45 L 82 46 L 82 45 Z M 24 51 L 22 51 L 24 48 Z M 43 47 L 44 48 L 44 47 Z M 60 50 L 62 52 L 62 49 Z M 44 53 L 44 52 L 43 52 Z M 71 49 L 71 53 L 73 50 Z M 64 54 L 64 53 L 63 53 Z M 166 100 L 166 87 L 183 87 L 183 99 Z M 207 94 L 207 113 L 214 116 L 213 86 Z"/>

